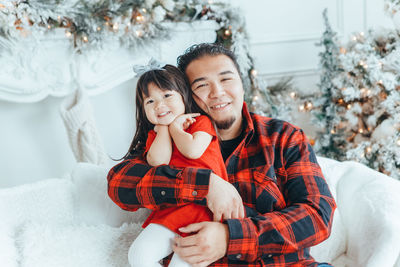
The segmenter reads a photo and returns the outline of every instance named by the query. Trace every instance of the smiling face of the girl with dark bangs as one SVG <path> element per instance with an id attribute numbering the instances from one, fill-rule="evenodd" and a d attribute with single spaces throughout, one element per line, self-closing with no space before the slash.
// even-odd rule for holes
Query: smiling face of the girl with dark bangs
<path id="1" fill-rule="evenodd" d="M 148 85 L 149 95 L 143 95 L 144 111 L 154 125 L 169 125 L 185 113 L 182 96 L 174 90 L 161 90 L 154 83 Z"/>

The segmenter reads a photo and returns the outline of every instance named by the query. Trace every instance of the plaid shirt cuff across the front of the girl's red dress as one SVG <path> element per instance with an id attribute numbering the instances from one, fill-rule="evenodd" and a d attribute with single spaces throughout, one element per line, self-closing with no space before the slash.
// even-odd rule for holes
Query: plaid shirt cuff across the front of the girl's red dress
<path id="1" fill-rule="evenodd" d="M 200 205 L 207 205 L 206 195 L 210 183 L 211 170 L 185 168 L 180 173 L 182 186 L 179 198 L 183 202 L 194 202 Z"/>

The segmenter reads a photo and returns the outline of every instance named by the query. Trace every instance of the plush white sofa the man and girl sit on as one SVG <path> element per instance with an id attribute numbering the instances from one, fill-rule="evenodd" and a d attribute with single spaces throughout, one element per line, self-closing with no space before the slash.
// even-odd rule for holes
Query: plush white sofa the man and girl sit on
<path id="1" fill-rule="evenodd" d="M 318 158 L 337 201 L 329 239 L 311 249 L 334 266 L 400 266 L 400 182 L 355 162 Z M 107 196 L 108 168 L 79 163 L 63 178 L 0 190 L 0 266 L 129 266 L 149 211 Z"/>

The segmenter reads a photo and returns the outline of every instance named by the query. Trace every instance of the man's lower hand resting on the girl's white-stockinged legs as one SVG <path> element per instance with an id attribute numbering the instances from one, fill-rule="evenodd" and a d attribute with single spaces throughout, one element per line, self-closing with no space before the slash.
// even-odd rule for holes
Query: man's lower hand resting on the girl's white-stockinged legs
<path id="1" fill-rule="evenodd" d="M 193 267 L 208 266 L 225 256 L 229 241 L 229 230 L 226 224 L 193 223 L 179 228 L 179 231 L 195 233 L 187 237 L 175 237 L 172 246 L 174 252 Z"/>

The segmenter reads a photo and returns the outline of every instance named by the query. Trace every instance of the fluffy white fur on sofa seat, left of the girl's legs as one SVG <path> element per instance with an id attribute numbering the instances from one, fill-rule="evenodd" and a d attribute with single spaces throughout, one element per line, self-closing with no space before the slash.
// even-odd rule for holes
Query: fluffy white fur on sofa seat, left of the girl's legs
<path id="1" fill-rule="evenodd" d="M 17 236 L 20 267 L 126 267 L 141 224 L 25 224 Z"/>

